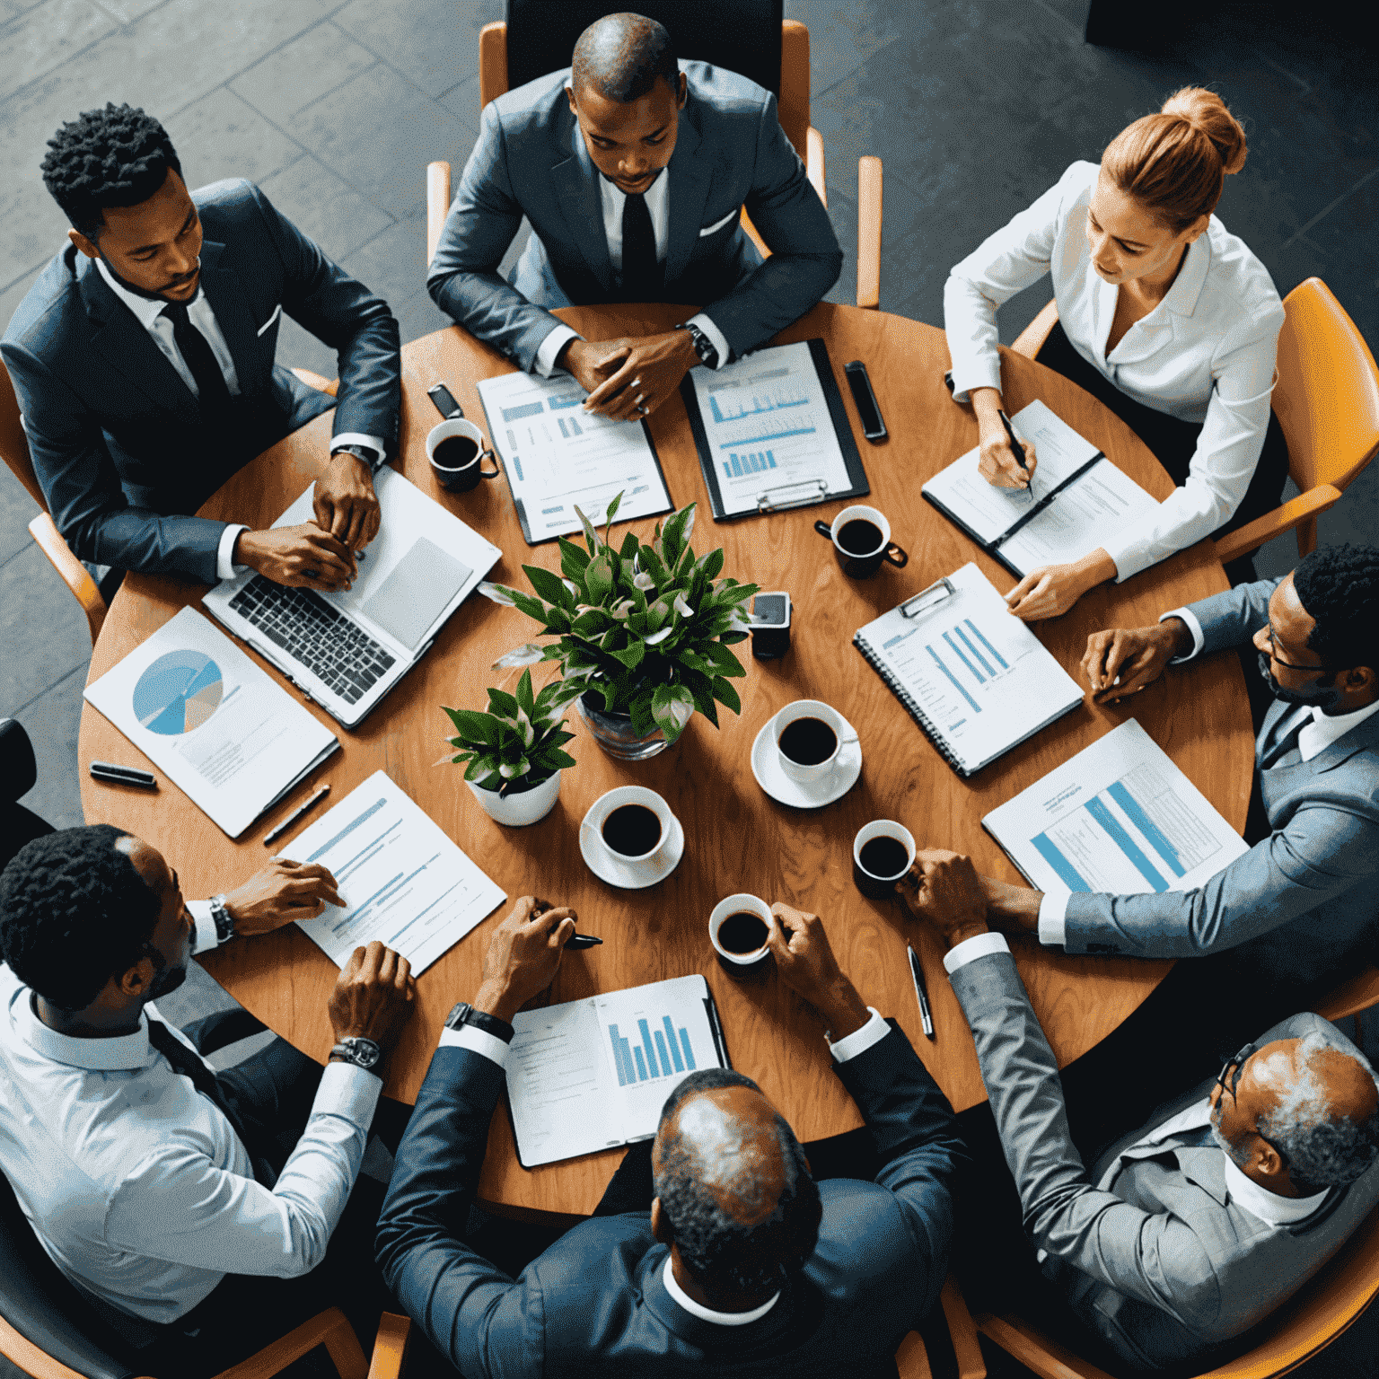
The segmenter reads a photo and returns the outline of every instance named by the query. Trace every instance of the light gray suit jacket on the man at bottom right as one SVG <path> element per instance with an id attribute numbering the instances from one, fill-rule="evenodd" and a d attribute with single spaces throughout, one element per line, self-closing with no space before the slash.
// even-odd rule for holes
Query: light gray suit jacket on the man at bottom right
<path id="1" fill-rule="evenodd" d="M 1125 1151 L 1201 1100 L 1211 1083 L 1164 1106 L 1113 1146 L 1088 1175 L 1063 1107 L 1058 1062 L 1009 953 L 953 974 L 982 1080 L 1020 1194 L 1025 1229 L 1051 1259 L 1045 1271 L 1073 1310 L 1134 1365 L 1162 1368 L 1218 1351 L 1291 1298 L 1379 1202 L 1379 1164 L 1333 1189 L 1311 1216 L 1271 1226 L 1231 1201 L 1225 1154 L 1167 1139 Z M 1258 1040 L 1325 1029 L 1295 1015 Z M 1105 1183 L 1105 1186 L 1099 1186 Z"/>

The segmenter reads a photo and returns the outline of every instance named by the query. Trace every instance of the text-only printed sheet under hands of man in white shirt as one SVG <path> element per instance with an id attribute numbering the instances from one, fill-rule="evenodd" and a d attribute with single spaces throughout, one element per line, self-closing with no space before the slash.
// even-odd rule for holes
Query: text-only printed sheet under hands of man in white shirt
<path id="1" fill-rule="evenodd" d="M 296 923 L 336 967 L 381 939 L 419 976 L 507 898 L 382 771 L 280 851 L 335 877 L 345 909 Z"/>

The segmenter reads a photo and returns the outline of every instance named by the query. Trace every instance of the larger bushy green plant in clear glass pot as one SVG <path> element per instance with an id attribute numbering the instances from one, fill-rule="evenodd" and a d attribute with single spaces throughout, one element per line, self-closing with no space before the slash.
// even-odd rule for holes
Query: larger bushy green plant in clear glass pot
<path id="1" fill-rule="evenodd" d="M 605 752 L 643 760 L 670 746 L 696 709 L 714 727 L 716 701 L 742 712 L 728 680 L 746 672 L 729 645 L 747 636 L 743 604 L 757 586 L 717 578 L 721 549 L 695 556 L 694 503 L 663 527 L 656 523 L 650 545 L 627 532 L 615 546 L 612 520 L 621 501 L 618 494 L 608 505 L 603 539 L 579 513 L 586 550 L 560 538 L 564 578 L 523 565 L 535 594 L 492 583 L 479 587 L 556 638 L 546 647 L 517 647 L 498 665 L 558 661 L 561 680 L 552 702 L 578 698 L 581 717 Z"/>

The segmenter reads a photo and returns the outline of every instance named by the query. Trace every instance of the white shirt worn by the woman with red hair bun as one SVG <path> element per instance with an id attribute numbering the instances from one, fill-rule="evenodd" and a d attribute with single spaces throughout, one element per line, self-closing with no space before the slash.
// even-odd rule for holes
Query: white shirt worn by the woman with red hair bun
<path id="1" fill-rule="evenodd" d="M 1240 506 L 1269 429 L 1284 309 L 1269 270 L 1214 215 L 1164 299 L 1107 354 L 1120 290 L 1096 274 L 1087 243 L 1099 171 L 1074 163 L 957 263 L 943 288 L 943 324 L 953 396 L 998 389 L 996 310 L 1048 273 L 1059 323 L 1083 359 L 1136 403 L 1201 425 L 1187 481 L 1102 541 L 1121 581 L 1211 535 Z"/>

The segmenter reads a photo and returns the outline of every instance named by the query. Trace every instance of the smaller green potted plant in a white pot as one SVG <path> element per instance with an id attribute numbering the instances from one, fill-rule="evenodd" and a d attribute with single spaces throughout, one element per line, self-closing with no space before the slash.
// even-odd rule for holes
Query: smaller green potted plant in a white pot
<path id="1" fill-rule="evenodd" d="M 455 725 L 454 765 L 467 763 L 465 783 L 490 818 L 523 825 L 543 819 L 556 807 L 560 772 L 575 758 L 561 752 L 574 736 L 560 713 L 560 681 L 541 694 L 531 691 L 531 672 L 517 681 L 517 694 L 488 691 L 488 712 L 445 709 Z"/>

